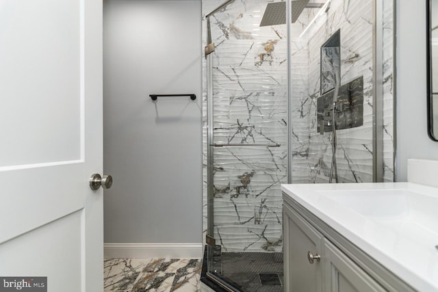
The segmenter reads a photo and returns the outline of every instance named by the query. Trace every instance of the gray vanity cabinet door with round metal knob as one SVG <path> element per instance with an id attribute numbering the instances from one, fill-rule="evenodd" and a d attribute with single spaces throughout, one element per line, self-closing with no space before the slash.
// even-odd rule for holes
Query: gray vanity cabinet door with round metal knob
<path id="1" fill-rule="evenodd" d="M 285 291 L 322 291 L 322 234 L 283 205 Z M 313 255 L 313 263 L 308 253 Z"/>

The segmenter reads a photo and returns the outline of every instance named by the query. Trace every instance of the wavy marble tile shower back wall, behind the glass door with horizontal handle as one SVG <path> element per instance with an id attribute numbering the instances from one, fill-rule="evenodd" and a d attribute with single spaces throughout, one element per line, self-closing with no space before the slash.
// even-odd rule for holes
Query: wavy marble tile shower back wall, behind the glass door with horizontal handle
<path id="1" fill-rule="evenodd" d="M 203 1 L 203 14 L 223 1 Z M 287 182 L 285 25 L 259 27 L 266 0 L 235 1 L 210 17 L 214 142 L 280 144 L 214 149 L 214 232 L 225 252 L 281 251 L 281 190 Z M 203 44 L 206 44 L 206 21 Z M 204 63 L 205 68 L 205 63 Z M 207 109 L 204 70 L 204 226 L 207 216 Z"/>

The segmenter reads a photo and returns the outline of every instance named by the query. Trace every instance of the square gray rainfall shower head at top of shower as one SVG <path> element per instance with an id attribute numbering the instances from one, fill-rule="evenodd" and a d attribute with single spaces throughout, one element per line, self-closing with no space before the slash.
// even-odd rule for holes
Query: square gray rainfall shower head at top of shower
<path id="1" fill-rule="evenodd" d="M 305 8 L 321 8 L 324 3 L 309 3 L 309 0 L 292 0 L 292 23 L 295 23 Z M 286 23 L 286 2 L 273 2 L 266 5 L 265 13 L 261 18 L 261 27 L 268 25 L 284 25 Z"/>

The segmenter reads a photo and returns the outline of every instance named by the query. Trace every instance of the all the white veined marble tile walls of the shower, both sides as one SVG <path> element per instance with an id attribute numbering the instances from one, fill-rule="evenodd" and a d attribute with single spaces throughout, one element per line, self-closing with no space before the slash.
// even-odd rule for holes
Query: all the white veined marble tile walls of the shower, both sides
<path id="1" fill-rule="evenodd" d="M 311 2 L 320 2 L 311 0 Z M 203 0 L 203 15 L 221 0 Z M 258 27 L 266 0 L 240 0 L 211 16 L 216 143 L 280 143 L 279 148 L 215 148 L 214 222 L 227 252 L 281 251 L 281 191 L 287 182 L 287 27 Z M 383 1 L 384 178 L 394 178 L 393 7 Z M 337 131 L 340 182 L 372 181 L 372 0 L 332 0 L 327 14 L 300 36 L 318 10 L 292 25 L 291 152 L 293 183 L 326 183 L 332 133 L 317 133 L 320 47 L 341 29 L 341 84 L 363 76 L 363 126 Z M 203 19 L 203 44 L 207 43 Z M 203 220 L 207 230 L 207 103 L 203 63 Z"/>

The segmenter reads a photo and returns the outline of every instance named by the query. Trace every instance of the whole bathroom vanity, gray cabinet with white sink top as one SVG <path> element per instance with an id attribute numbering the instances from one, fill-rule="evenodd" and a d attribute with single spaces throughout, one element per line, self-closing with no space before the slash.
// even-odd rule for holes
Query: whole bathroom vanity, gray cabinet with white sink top
<path id="1" fill-rule="evenodd" d="M 285 291 L 438 291 L 438 188 L 428 184 L 282 185 Z"/>

